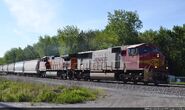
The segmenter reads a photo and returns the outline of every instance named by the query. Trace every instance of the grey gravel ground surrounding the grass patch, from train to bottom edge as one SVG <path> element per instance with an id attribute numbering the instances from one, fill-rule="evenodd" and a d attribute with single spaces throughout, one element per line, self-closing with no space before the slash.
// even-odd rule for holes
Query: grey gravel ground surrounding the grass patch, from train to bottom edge
<path id="1" fill-rule="evenodd" d="M 122 84 L 115 82 L 88 82 L 59 80 L 49 78 L 35 78 L 24 76 L 1 76 L 10 80 L 44 83 L 50 85 L 83 86 L 87 88 L 100 88 L 105 96 L 96 101 L 82 104 L 47 104 L 47 103 L 0 103 L 0 107 L 184 107 L 185 88 L 168 86 L 146 86 Z"/>

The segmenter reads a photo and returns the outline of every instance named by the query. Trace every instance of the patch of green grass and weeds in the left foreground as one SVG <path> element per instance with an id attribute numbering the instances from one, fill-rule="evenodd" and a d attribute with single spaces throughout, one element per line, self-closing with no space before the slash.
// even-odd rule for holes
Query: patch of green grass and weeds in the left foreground
<path id="1" fill-rule="evenodd" d="M 0 102 L 82 103 L 95 100 L 101 90 L 49 86 L 0 79 Z"/>

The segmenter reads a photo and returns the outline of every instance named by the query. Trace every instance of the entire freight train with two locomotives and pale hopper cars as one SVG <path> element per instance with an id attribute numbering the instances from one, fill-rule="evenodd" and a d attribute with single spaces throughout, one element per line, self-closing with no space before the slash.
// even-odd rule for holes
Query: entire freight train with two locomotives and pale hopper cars
<path id="1" fill-rule="evenodd" d="M 168 83 L 164 55 L 150 44 L 112 47 L 0 66 L 1 73 L 77 80 Z"/>

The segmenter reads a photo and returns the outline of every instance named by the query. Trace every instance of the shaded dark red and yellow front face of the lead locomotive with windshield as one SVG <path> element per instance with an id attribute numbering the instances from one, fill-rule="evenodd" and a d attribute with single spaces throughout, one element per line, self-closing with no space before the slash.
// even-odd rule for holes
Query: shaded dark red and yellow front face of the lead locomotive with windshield
<path id="1" fill-rule="evenodd" d="M 153 45 L 143 45 L 138 47 L 139 68 L 143 69 L 144 81 L 158 83 L 167 83 L 167 70 L 165 57 L 159 49 Z"/>

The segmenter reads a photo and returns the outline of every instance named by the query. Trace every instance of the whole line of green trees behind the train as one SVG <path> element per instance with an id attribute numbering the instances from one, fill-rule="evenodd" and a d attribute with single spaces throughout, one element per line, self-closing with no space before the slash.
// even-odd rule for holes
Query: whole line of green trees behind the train
<path id="1" fill-rule="evenodd" d="M 168 61 L 170 74 L 185 75 L 185 24 L 139 32 L 143 25 L 136 11 L 115 10 L 108 12 L 107 18 L 103 30 L 83 31 L 73 25 L 65 26 L 55 36 L 40 36 L 33 45 L 12 48 L 0 58 L 0 64 L 144 42 L 159 47 Z"/>

